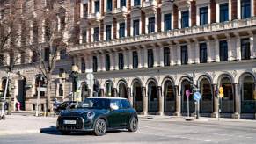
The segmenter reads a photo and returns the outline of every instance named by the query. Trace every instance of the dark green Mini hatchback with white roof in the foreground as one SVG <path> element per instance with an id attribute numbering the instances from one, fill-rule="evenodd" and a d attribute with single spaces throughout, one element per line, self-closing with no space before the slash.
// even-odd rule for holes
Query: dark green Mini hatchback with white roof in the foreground
<path id="1" fill-rule="evenodd" d="M 113 129 L 135 132 L 138 116 L 126 98 L 89 97 L 76 109 L 62 111 L 56 126 L 62 134 L 86 131 L 100 136 Z"/>

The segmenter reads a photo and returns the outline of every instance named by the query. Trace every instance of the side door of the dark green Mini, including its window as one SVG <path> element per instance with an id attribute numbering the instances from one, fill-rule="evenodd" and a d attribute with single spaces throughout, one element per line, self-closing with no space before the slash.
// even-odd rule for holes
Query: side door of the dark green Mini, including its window
<path id="1" fill-rule="evenodd" d="M 121 126 L 123 123 L 123 118 L 122 118 L 122 107 L 121 107 L 121 101 L 119 99 L 111 99 L 110 100 L 110 105 L 117 105 L 119 108 L 117 110 L 110 110 L 108 114 L 108 125 L 110 127 L 117 127 Z"/>

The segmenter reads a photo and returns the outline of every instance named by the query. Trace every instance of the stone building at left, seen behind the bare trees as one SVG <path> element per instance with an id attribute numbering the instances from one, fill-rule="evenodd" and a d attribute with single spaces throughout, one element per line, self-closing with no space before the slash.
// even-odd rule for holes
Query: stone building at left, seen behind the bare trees
<path id="1" fill-rule="evenodd" d="M 67 18 L 72 18 L 69 25 L 74 25 L 74 11 L 76 8 L 76 1 L 70 1 L 71 4 L 68 5 L 67 1 L 58 0 L 55 1 L 55 6 L 53 9 L 59 11 L 57 15 L 56 23 L 62 28 L 62 22 L 67 21 Z M 41 56 L 44 61 L 49 61 L 49 48 L 44 47 L 46 39 L 46 29 L 47 19 L 42 18 L 42 13 L 47 14 L 52 1 L 49 0 L 8 0 L 1 1 L 0 10 L 0 22 L 12 12 L 17 12 L 20 17 L 20 23 L 18 23 L 18 32 L 21 32 L 18 38 L 18 47 L 29 47 L 33 44 L 34 38 L 39 41 L 39 46 L 42 48 Z M 11 10 L 11 11 L 10 11 Z M 55 19 L 50 19 L 55 20 Z M 30 25 L 31 28 L 27 31 L 25 30 L 26 25 Z M 69 37 L 68 32 L 64 33 Z M 26 35 L 26 38 L 23 36 Z M 27 39 L 28 35 L 28 39 Z M 27 43 L 22 40 L 27 39 Z M 29 50 L 29 49 L 28 49 Z M 11 79 L 9 84 L 9 89 L 7 90 L 7 98 L 12 101 L 12 110 L 15 110 L 16 102 L 21 103 L 21 110 L 32 111 L 36 109 L 37 103 L 37 88 L 39 87 L 39 82 L 41 87 L 46 87 L 45 81 L 38 77 L 40 70 L 38 69 L 39 61 L 35 58 L 35 55 L 31 53 L 30 56 L 23 55 L 20 52 L 15 52 L 15 55 L 20 55 L 20 59 L 15 63 L 15 67 L 11 72 Z M 4 53 L 0 54 L 1 58 L 6 59 L 7 65 L 10 61 L 13 61 L 13 54 Z M 53 73 L 53 78 L 51 80 L 51 99 L 54 101 L 57 98 L 60 101 L 69 99 L 69 92 L 71 91 L 72 83 L 69 83 L 69 76 L 62 75 L 64 71 L 68 72 L 71 69 L 71 61 L 69 55 L 66 53 L 66 49 L 57 54 L 57 62 L 55 66 L 55 71 Z M 5 71 L 6 65 L 0 65 L 0 91 L 2 93 L 2 98 L 4 95 L 4 87 L 6 83 L 7 73 Z M 46 109 L 46 92 L 40 92 L 40 110 L 45 111 Z M 72 97 L 70 97 L 72 99 Z"/>

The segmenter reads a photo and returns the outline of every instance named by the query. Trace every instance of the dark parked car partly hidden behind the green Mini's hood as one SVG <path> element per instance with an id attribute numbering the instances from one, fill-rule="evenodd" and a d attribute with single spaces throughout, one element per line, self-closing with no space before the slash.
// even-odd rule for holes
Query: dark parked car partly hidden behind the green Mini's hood
<path id="1" fill-rule="evenodd" d="M 76 101 L 65 101 L 54 104 L 54 111 L 58 115 L 63 110 L 74 109 L 78 103 Z"/>

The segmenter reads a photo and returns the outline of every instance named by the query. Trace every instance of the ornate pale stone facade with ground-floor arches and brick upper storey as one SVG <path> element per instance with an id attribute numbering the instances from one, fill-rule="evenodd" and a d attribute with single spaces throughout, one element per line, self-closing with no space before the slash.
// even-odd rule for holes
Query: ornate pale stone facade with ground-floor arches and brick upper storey
<path id="1" fill-rule="evenodd" d="M 201 115 L 256 113 L 255 0 L 88 0 L 69 54 L 95 76 L 91 94 L 126 97 L 142 114 L 187 112 L 186 90 L 201 92 Z M 86 85 L 86 84 L 84 84 Z M 86 89 L 88 90 L 88 89 Z M 83 91 L 83 89 L 82 89 Z M 194 112 L 193 97 L 189 97 Z"/>

